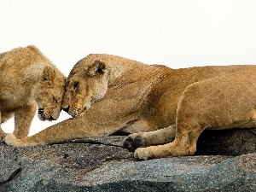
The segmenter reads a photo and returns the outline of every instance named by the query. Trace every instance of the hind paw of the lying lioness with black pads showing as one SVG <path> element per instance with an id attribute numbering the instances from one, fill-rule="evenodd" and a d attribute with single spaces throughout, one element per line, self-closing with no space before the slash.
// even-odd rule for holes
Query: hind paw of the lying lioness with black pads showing
<path id="1" fill-rule="evenodd" d="M 130 152 L 134 152 L 137 148 L 143 147 L 143 137 L 138 133 L 131 134 L 125 138 L 123 147 L 127 148 Z"/>

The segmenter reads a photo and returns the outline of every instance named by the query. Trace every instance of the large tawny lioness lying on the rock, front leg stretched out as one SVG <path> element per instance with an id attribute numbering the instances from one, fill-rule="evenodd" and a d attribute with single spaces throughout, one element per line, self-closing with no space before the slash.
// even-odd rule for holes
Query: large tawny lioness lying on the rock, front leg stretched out
<path id="1" fill-rule="evenodd" d="M 205 129 L 256 127 L 255 74 L 256 66 L 174 70 L 88 55 L 67 78 L 62 108 L 73 118 L 32 137 L 7 135 L 5 142 L 37 146 L 123 131 L 134 133 L 124 146 L 137 148 L 138 159 L 192 155 Z"/>

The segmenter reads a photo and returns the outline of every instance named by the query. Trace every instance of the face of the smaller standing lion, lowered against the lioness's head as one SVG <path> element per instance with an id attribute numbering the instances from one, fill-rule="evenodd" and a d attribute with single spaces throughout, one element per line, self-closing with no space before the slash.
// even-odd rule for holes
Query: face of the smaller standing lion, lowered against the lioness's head
<path id="1" fill-rule="evenodd" d="M 64 88 L 64 75 L 51 67 L 45 67 L 37 89 L 34 90 L 39 119 L 51 121 L 59 118 Z"/>

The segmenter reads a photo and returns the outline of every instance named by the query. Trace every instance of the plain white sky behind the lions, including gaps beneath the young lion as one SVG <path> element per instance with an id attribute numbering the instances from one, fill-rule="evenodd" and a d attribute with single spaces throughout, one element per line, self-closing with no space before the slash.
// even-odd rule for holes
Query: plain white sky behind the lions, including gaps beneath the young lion
<path id="1" fill-rule="evenodd" d="M 255 0 L 1 0 L 0 52 L 35 44 L 66 76 L 90 53 L 168 67 L 256 63 Z M 11 79 L 10 79 L 11 80 Z M 30 135 L 63 119 L 35 117 Z M 14 130 L 14 119 L 3 125 Z"/>

